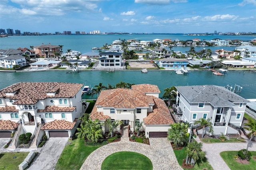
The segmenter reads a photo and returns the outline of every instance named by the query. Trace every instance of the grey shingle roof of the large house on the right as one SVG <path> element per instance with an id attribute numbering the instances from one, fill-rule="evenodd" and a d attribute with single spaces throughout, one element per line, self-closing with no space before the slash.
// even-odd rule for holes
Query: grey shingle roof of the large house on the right
<path id="1" fill-rule="evenodd" d="M 210 103 L 214 107 L 233 107 L 234 103 L 249 102 L 236 93 L 216 85 L 177 86 L 176 89 L 189 103 Z"/>

